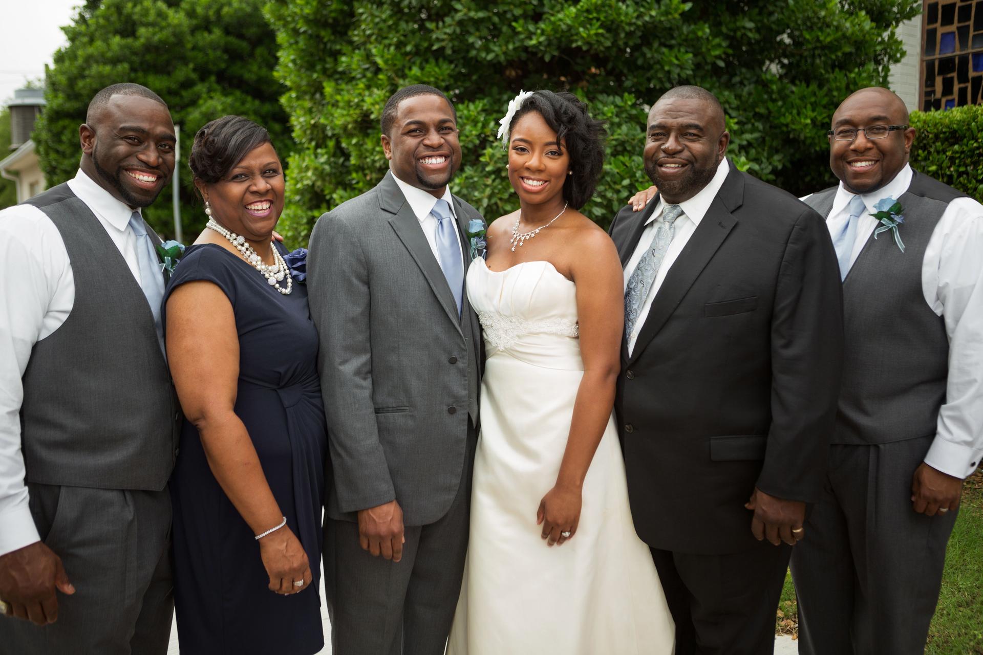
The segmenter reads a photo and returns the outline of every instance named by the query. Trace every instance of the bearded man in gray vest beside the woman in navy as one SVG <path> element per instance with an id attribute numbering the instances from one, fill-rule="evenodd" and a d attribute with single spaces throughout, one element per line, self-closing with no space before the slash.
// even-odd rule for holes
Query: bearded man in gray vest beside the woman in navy
<path id="1" fill-rule="evenodd" d="M 113 84 L 79 136 L 74 179 L 0 211 L 0 652 L 162 655 L 179 409 L 141 210 L 174 126 Z"/>

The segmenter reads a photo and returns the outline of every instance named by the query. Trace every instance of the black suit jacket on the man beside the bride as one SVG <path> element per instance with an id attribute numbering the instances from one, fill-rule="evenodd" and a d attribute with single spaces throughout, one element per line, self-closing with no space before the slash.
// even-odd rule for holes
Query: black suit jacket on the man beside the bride
<path id="1" fill-rule="evenodd" d="M 624 265 L 658 203 L 618 212 Z M 754 487 L 811 502 L 826 470 L 842 355 L 838 263 L 826 223 L 730 164 L 653 300 L 615 409 L 639 536 L 655 548 L 757 542 Z"/>

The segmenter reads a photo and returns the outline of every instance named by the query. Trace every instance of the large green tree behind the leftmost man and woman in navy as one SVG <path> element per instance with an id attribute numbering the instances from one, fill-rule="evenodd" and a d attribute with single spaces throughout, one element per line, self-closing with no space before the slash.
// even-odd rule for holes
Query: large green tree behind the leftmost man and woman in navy
<path id="1" fill-rule="evenodd" d="M 193 197 L 188 154 L 202 125 L 240 114 L 269 130 L 284 161 L 293 147 L 278 102 L 284 88 L 273 79 L 276 47 L 262 18 L 264 2 L 89 0 L 64 27 L 68 45 L 48 70 L 47 106 L 33 135 L 48 185 L 75 176 L 79 126 L 92 95 L 116 82 L 144 84 L 167 102 L 181 126 L 181 214 L 185 240 L 194 240 L 204 213 Z M 162 237 L 173 237 L 170 188 L 145 216 Z"/>

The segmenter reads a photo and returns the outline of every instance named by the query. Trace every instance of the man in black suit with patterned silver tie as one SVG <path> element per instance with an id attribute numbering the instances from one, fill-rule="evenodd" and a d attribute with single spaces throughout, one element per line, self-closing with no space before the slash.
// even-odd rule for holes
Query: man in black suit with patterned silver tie
<path id="1" fill-rule="evenodd" d="M 645 147 L 660 194 L 610 228 L 625 267 L 615 409 L 628 493 L 677 655 L 773 651 L 836 417 L 829 233 L 795 197 L 737 171 L 729 139 L 712 93 L 667 91 Z"/>

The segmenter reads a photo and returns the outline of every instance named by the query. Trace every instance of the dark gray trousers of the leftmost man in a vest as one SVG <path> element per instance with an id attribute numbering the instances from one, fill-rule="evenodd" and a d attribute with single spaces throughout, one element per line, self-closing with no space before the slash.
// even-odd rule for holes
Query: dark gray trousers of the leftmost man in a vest
<path id="1" fill-rule="evenodd" d="M 76 592 L 58 621 L 0 619 L 7 655 L 165 655 L 174 611 L 171 500 L 163 491 L 29 484 L 30 512 Z"/>

